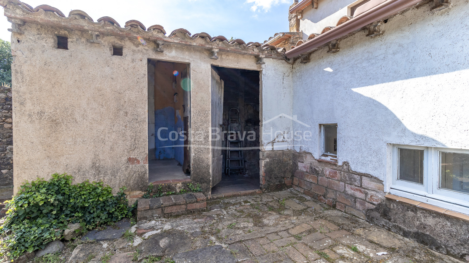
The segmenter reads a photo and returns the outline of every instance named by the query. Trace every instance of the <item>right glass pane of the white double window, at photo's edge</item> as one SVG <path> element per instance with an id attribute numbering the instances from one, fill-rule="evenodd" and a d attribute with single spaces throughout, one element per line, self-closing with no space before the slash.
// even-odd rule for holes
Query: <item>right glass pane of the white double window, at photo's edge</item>
<path id="1" fill-rule="evenodd" d="M 469 193 L 469 154 L 440 152 L 440 188 Z"/>

